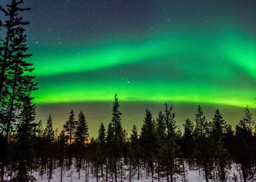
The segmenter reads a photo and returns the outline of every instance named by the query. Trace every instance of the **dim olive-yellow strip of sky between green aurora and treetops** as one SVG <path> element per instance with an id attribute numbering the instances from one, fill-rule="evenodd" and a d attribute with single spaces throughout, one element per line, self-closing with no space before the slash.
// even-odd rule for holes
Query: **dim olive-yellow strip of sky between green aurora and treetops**
<path id="1" fill-rule="evenodd" d="M 119 98 L 119 97 L 118 97 Z M 130 136 L 131 129 L 135 124 L 138 129 L 138 133 L 140 133 L 140 129 L 142 127 L 144 117 L 145 117 L 145 110 L 148 108 L 149 111 L 152 113 L 152 117 L 156 119 L 159 111 L 164 111 L 165 106 L 164 103 L 129 103 L 129 102 L 122 102 L 118 99 L 120 107 L 119 111 L 122 113 L 121 115 L 121 122 L 123 124 L 123 128 L 126 129 L 128 136 Z M 69 118 L 71 110 L 74 111 L 75 118 L 78 118 L 78 114 L 80 111 L 83 111 L 85 114 L 86 122 L 88 123 L 88 133 L 89 139 L 94 137 L 97 138 L 98 130 L 100 127 L 100 123 L 102 122 L 107 128 L 107 125 L 112 119 L 112 102 L 83 102 L 80 104 L 74 103 L 61 103 L 61 104 L 37 104 L 36 106 L 39 107 L 40 112 L 36 114 L 36 122 L 39 119 L 42 120 L 43 127 L 46 126 L 47 119 L 49 115 L 52 116 L 53 121 L 53 128 L 58 128 L 60 133 L 63 125 Z M 168 103 L 167 103 L 168 104 Z M 172 103 L 168 104 L 168 107 L 173 107 L 172 112 L 175 114 L 175 121 L 177 127 L 180 127 L 180 130 L 183 133 L 183 125 L 185 123 L 185 119 L 190 119 L 195 124 L 195 114 L 197 113 L 198 104 L 191 104 L 191 103 Z M 46 108 L 45 105 L 48 105 Z M 148 105 L 148 107 L 145 107 Z M 206 116 L 207 121 L 212 121 L 214 113 L 216 109 L 219 109 L 220 113 L 223 116 L 223 119 L 230 124 L 233 129 L 235 129 L 235 125 L 239 123 L 239 121 L 245 116 L 245 107 L 236 107 L 233 106 L 230 109 L 230 106 L 227 105 L 209 105 L 209 104 L 199 104 L 204 112 L 204 116 Z M 70 109 L 69 109 L 70 107 Z M 133 109 L 131 109 L 131 107 Z M 249 106 L 248 106 L 249 107 Z M 100 111 L 104 111 L 101 112 Z M 127 112 L 126 112 L 127 111 Z M 249 107 L 249 111 L 254 114 L 254 108 Z"/>

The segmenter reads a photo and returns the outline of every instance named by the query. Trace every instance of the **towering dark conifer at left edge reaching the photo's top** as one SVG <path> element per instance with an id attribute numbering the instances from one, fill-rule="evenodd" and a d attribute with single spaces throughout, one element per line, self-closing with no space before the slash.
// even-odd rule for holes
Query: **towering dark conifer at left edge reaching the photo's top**
<path id="1" fill-rule="evenodd" d="M 21 26 L 29 24 L 23 22 L 22 17 L 18 13 L 29 8 L 22 9 L 18 5 L 23 1 L 16 2 L 12 0 L 5 10 L 0 6 L 0 10 L 5 14 L 7 20 L 5 23 L 0 21 L 0 27 L 6 29 L 5 40 L 0 39 L 0 125 L 1 132 L 4 136 L 3 142 L 3 161 L 1 164 L 1 182 L 3 181 L 3 172 L 5 167 L 5 154 L 7 150 L 7 140 L 10 133 L 11 122 L 14 122 L 14 111 L 25 102 L 22 97 L 28 93 L 26 89 L 31 84 L 33 77 L 24 76 L 24 71 L 32 71 L 29 68 L 32 64 L 26 63 L 23 59 L 31 56 L 24 54 L 27 50 L 26 35 L 23 34 L 24 29 Z M 2 30 L 1 30 L 2 31 Z M 32 87 L 30 87 L 32 91 Z"/>

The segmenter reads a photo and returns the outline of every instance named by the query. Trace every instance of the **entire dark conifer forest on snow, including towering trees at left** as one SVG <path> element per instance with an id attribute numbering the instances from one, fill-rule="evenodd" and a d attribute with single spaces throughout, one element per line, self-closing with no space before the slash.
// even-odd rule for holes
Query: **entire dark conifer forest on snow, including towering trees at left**
<path id="1" fill-rule="evenodd" d="M 19 16 L 30 9 L 19 8 L 21 3 L 12 0 L 7 8 L 0 7 L 7 17 L 0 22 L 1 31 L 6 32 L 0 39 L 1 182 L 40 181 L 35 173 L 42 179 L 47 176 L 50 182 L 56 172 L 62 181 L 71 168 L 77 170 L 78 180 L 85 182 L 92 176 L 97 182 L 187 182 L 188 170 L 197 170 L 206 182 L 255 181 L 256 125 L 247 106 L 244 117 L 232 128 L 218 109 L 207 121 L 199 105 L 195 117 L 184 121 L 182 132 L 172 107 L 165 103 L 165 110 L 156 118 L 145 110 L 140 133 L 135 125 L 127 133 L 116 94 L 112 119 L 107 126 L 99 125 L 95 138 L 89 138 L 82 111 L 75 118 L 71 110 L 58 135 L 51 116 L 43 128 L 42 121 L 35 121 L 36 105 L 31 96 L 38 89 L 31 76 L 33 64 L 26 62 L 32 55 L 26 54 L 23 26 L 29 22 Z M 232 173 L 232 168 L 237 173 Z"/>

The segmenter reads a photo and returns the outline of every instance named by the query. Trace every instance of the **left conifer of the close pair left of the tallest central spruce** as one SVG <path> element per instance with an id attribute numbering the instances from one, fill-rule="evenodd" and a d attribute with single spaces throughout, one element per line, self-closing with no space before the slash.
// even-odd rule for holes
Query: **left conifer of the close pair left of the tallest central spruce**
<path id="1" fill-rule="evenodd" d="M 74 134 L 76 132 L 76 123 L 77 122 L 76 122 L 76 119 L 74 118 L 74 111 L 71 110 L 69 120 L 66 122 L 66 124 L 63 125 L 64 131 L 69 136 L 68 169 L 70 169 L 71 162 L 72 162 L 72 148 L 73 148 Z"/>

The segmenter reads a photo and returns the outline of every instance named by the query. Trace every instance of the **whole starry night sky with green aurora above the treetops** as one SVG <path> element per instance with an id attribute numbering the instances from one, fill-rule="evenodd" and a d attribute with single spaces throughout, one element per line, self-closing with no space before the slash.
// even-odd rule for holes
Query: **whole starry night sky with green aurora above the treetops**
<path id="1" fill-rule="evenodd" d="M 0 0 L 1 5 L 10 0 Z M 194 121 L 200 104 L 227 123 L 255 111 L 256 1 L 24 0 L 27 61 L 39 90 L 36 121 L 62 129 L 83 110 L 90 136 L 111 121 L 118 94 L 123 127 L 140 129 L 173 106 L 176 123 Z M 1 19 L 3 14 L 0 14 Z M 2 37 L 2 35 L 1 35 Z"/>

